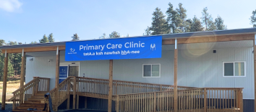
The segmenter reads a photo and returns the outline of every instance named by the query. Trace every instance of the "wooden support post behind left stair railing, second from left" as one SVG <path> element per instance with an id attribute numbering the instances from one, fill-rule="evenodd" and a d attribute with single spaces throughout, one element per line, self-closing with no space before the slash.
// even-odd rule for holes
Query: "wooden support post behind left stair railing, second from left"
<path id="1" fill-rule="evenodd" d="M 25 78 L 25 52 L 22 49 L 22 63 L 21 63 L 21 73 L 20 73 L 20 88 L 24 85 L 24 78 Z M 20 103 L 23 103 L 24 94 L 20 94 Z"/>

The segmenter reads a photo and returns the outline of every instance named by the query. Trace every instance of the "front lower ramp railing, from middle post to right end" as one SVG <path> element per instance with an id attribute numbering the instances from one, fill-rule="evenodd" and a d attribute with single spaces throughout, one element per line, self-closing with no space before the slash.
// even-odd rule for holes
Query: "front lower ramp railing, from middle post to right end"
<path id="1" fill-rule="evenodd" d="M 114 95 L 113 99 L 116 112 L 174 111 L 174 103 L 179 111 L 243 111 L 242 88 L 178 90 L 178 102 L 173 90 Z"/>

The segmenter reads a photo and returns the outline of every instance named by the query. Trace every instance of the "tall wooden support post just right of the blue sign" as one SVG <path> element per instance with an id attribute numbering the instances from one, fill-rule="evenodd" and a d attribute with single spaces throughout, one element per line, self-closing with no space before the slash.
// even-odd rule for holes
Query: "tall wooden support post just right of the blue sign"
<path id="1" fill-rule="evenodd" d="M 174 112 L 178 111 L 178 87 L 177 87 L 178 50 L 177 39 L 175 39 L 174 50 Z"/>

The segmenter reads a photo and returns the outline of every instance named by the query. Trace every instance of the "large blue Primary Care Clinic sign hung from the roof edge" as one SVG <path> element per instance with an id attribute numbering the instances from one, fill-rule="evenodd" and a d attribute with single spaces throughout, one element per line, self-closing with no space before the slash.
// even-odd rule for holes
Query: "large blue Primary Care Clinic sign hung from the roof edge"
<path id="1" fill-rule="evenodd" d="M 162 37 L 66 42 L 65 61 L 161 58 Z"/>

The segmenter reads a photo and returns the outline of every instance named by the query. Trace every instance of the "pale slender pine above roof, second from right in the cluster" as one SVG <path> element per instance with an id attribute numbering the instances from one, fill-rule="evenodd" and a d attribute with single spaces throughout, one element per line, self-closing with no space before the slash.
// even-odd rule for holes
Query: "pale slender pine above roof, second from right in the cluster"
<path id="1" fill-rule="evenodd" d="M 202 9 L 202 24 L 205 25 L 205 31 L 216 30 L 216 26 L 213 22 L 213 17 L 208 13 L 208 8 Z"/>

